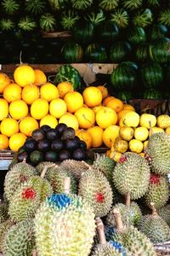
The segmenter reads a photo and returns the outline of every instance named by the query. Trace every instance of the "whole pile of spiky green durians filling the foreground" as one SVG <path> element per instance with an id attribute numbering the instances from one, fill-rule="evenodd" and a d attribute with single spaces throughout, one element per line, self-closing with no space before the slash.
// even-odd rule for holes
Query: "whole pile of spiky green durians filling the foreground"
<path id="1" fill-rule="evenodd" d="M 150 136 L 145 157 L 93 163 L 26 161 L 10 167 L 0 204 L 5 256 L 154 256 L 170 241 L 170 136 Z"/>

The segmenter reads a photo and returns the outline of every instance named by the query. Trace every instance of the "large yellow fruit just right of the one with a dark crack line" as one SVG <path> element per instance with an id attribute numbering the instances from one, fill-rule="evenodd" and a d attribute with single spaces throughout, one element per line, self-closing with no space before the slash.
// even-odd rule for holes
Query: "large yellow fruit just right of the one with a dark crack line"
<path id="1" fill-rule="evenodd" d="M 115 110 L 111 108 L 101 108 L 96 113 L 96 123 L 102 129 L 105 129 L 111 125 L 116 125 L 117 122 L 117 114 Z"/>

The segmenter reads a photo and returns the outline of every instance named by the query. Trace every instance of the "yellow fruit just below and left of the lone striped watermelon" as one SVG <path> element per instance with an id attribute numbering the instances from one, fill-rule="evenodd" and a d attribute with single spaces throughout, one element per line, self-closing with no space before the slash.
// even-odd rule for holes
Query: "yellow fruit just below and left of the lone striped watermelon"
<path id="1" fill-rule="evenodd" d="M 59 98 L 59 90 L 54 84 L 48 82 L 40 87 L 40 96 L 42 99 L 51 102 L 52 100 Z"/>

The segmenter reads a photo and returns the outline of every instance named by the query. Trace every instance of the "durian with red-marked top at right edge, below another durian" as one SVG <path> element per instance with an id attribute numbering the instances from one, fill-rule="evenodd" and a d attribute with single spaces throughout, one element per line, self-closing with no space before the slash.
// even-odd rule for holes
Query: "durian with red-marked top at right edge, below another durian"
<path id="1" fill-rule="evenodd" d="M 150 207 L 153 202 L 156 209 L 164 207 L 169 199 L 169 183 L 167 176 L 160 176 L 156 173 L 150 174 L 149 189 L 144 195 L 144 203 Z"/>

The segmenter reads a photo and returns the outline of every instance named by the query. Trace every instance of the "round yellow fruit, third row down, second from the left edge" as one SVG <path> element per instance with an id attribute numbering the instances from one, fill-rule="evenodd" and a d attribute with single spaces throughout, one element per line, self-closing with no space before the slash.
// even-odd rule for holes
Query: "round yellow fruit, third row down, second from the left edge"
<path id="1" fill-rule="evenodd" d="M 28 106 L 22 100 L 11 102 L 8 107 L 8 112 L 13 119 L 20 120 L 28 114 Z"/>

